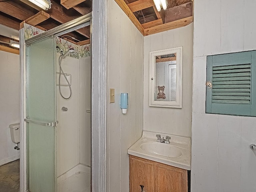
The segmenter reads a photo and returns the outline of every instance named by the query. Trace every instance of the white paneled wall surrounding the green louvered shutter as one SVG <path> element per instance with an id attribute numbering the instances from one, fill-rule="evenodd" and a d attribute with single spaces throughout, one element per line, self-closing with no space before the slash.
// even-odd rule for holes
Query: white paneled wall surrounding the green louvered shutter
<path id="1" fill-rule="evenodd" d="M 256 191 L 256 118 L 205 113 L 206 56 L 256 50 L 254 0 L 194 4 L 191 192 Z"/>

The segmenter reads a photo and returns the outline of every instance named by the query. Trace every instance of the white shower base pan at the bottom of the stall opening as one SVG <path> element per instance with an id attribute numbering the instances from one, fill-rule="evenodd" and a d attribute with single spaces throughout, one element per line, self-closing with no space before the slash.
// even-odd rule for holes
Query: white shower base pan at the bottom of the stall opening
<path id="1" fill-rule="evenodd" d="M 90 167 L 78 164 L 58 177 L 58 192 L 90 192 Z"/>

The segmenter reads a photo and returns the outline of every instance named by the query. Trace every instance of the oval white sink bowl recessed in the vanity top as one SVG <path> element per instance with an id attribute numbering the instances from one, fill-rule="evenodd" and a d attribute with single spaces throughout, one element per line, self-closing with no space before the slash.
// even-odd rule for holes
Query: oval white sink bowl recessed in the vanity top
<path id="1" fill-rule="evenodd" d="M 179 157 L 181 151 L 170 144 L 158 143 L 158 142 L 147 142 L 140 145 L 142 150 L 146 152 L 157 154 L 165 157 Z"/>

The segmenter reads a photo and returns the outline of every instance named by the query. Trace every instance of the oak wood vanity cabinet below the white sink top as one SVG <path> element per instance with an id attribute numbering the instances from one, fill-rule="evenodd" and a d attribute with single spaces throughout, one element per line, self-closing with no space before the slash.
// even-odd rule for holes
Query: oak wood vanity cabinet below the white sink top
<path id="1" fill-rule="evenodd" d="M 129 155 L 130 192 L 188 192 L 187 170 Z"/>

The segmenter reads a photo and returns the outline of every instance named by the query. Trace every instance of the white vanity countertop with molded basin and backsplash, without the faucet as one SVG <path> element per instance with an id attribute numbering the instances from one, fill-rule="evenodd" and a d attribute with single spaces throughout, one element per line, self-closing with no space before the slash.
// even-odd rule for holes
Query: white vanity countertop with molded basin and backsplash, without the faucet
<path id="1" fill-rule="evenodd" d="M 170 136 L 170 144 L 156 142 L 157 134 L 164 138 Z M 143 131 L 142 137 L 127 152 L 140 158 L 190 170 L 191 140 L 188 137 Z"/>

